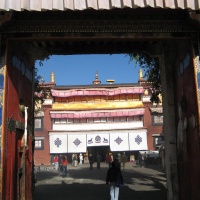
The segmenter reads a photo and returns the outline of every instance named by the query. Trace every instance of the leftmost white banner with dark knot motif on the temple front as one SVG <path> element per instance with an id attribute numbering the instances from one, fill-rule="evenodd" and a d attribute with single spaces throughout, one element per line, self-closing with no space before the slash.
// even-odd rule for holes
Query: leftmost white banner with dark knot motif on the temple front
<path id="1" fill-rule="evenodd" d="M 50 153 L 67 153 L 67 135 L 49 135 Z"/>

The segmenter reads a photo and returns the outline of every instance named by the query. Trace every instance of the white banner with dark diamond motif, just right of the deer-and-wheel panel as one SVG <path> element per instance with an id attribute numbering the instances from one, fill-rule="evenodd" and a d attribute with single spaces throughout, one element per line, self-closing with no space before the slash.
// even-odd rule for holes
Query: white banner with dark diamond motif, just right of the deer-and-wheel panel
<path id="1" fill-rule="evenodd" d="M 111 133 L 110 134 L 111 151 L 129 151 L 128 133 Z"/>

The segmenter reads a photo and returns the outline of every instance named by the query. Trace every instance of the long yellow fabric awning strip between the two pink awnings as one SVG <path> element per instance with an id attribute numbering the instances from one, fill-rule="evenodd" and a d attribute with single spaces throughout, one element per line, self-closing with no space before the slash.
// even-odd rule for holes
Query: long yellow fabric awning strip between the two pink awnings
<path id="1" fill-rule="evenodd" d="M 144 107 L 142 101 L 134 102 L 99 102 L 99 103 L 54 103 L 53 110 L 101 110 L 101 109 L 127 109 Z"/>

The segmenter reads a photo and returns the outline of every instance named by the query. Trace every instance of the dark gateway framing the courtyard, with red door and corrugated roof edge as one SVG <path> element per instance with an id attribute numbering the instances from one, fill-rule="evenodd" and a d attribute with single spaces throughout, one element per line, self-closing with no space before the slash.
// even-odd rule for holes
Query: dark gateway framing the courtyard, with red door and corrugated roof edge
<path id="1" fill-rule="evenodd" d="M 200 199 L 198 1 L 23 2 L 0 0 L 1 198 L 32 199 L 34 61 L 137 51 L 160 59 L 168 199 Z"/>

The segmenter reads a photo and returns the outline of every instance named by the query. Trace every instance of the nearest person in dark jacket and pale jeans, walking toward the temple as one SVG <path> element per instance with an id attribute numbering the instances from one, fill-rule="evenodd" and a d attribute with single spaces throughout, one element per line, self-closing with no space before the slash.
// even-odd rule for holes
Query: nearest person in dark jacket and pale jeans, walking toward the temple
<path id="1" fill-rule="evenodd" d="M 106 176 L 106 184 L 110 184 L 110 198 L 111 200 L 118 200 L 119 186 L 123 184 L 123 178 L 119 167 L 112 162 L 112 167 L 108 169 Z"/>

